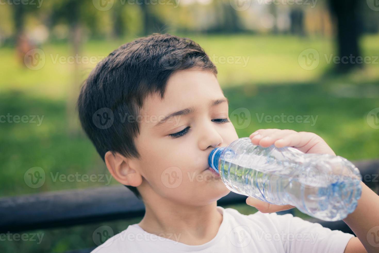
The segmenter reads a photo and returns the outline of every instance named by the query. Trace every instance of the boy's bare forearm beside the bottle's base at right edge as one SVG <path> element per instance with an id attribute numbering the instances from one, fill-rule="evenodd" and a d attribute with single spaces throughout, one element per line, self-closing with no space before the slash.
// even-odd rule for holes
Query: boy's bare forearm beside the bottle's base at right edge
<path id="1" fill-rule="evenodd" d="M 357 208 L 343 221 L 356 234 L 367 252 L 379 251 L 379 196 L 363 182 Z M 376 247 L 375 247 L 376 246 Z"/>

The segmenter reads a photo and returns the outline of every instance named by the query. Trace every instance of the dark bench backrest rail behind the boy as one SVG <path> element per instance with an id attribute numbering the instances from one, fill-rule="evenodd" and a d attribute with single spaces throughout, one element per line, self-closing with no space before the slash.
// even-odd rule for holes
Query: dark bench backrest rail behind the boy
<path id="1" fill-rule="evenodd" d="M 359 168 L 363 182 L 377 192 L 379 160 L 358 161 L 354 164 Z M 245 203 L 245 200 L 246 196 L 230 192 L 218 201 L 218 205 Z M 67 227 L 143 215 L 142 201 L 123 185 L 3 197 L 0 198 L 0 233 Z M 352 233 L 343 221 L 310 221 L 332 230 Z M 84 253 L 91 250 L 70 252 Z"/>

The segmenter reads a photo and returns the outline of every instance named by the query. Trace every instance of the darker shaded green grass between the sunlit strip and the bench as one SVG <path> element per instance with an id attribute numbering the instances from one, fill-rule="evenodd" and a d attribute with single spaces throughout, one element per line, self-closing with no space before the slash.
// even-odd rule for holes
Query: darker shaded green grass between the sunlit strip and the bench
<path id="1" fill-rule="evenodd" d="M 362 90 L 366 85 L 360 85 Z M 371 86 L 379 90 L 379 85 Z M 249 136 L 257 129 L 279 128 L 315 132 L 326 140 L 336 154 L 349 160 L 377 158 L 377 129 L 371 128 L 367 113 L 377 107 L 377 99 L 340 97 L 328 86 L 307 83 L 298 85 L 236 86 L 224 88 L 230 100 L 230 118 L 239 137 Z M 106 182 L 61 182 L 58 174 L 108 174 L 104 163 L 84 134 L 67 133 L 65 103 L 49 99 L 31 98 L 23 93 L 4 93 L 0 101 L 4 115 L 44 116 L 37 123 L 2 123 L 0 157 L 3 171 L 1 195 L 47 192 L 72 188 L 105 186 Z M 250 124 L 239 129 L 232 112 L 247 108 Z M 312 115 L 312 123 L 260 122 L 263 115 Z M 234 115 L 235 116 L 235 115 Z M 314 126 L 312 126 L 314 124 Z M 46 174 L 42 187 L 30 188 L 24 181 L 25 172 L 41 167 Z M 116 184 L 114 179 L 111 184 Z"/>

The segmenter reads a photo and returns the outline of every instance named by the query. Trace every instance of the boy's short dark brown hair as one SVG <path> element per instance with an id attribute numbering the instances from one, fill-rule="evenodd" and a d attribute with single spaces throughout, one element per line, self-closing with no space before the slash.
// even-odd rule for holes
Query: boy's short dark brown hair
<path id="1" fill-rule="evenodd" d="M 153 33 L 111 52 L 89 74 L 77 102 L 81 126 L 100 157 L 118 152 L 139 158 L 134 140 L 139 134 L 139 110 L 148 95 L 161 99 L 176 70 L 199 68 L 217 75 L 204 49 L 189 38 Z M 149 145 L 149 144 L 146 144 Z M 139 199 L 136 187 L 125 185 Z"/>

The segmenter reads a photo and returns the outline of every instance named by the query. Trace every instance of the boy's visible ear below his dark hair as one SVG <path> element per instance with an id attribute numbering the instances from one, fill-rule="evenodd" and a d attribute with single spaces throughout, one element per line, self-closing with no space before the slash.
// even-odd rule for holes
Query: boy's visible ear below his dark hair
<path id="1" fill-rule="evenodd" d="M 113 155 L 111 151 L 106 152 L 104 158 L 109 172 L 121 184 L 137 187 L 142 183 L 141 174 L 130 166 L 131 159 L 117 152 Z"/>

